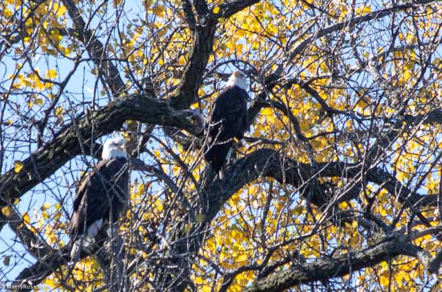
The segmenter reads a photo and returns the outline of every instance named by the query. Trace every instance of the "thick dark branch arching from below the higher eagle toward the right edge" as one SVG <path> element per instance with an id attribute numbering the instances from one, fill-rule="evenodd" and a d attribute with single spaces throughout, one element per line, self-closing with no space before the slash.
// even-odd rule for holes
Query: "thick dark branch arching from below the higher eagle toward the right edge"
<path id="1" fill-rule="evenodd" d="M 317 170 L 313 171 L 311 165 L 297 163 L 273 149 L 259 149 L 249 154 L 227 169 L 222 182 L 215 181 L 207 190 L 210 196 L 209 221 L 215 218 L 232 194 L 260 176 L 275 178 L 280 183 L 299 187 L 311 179 L 312 173 L 318 177 L 360 178 L 363 171 L 362 165 L 341 162 L 317 163 L 316 167 Z M 413 193 L 381 169 L 368 169 L 363 175 L 368 181 L 383 185 L 401 202 L 407 200 L 414 207 L 437 204 L 437 196 L 421 196 Z M 396 194 L 396 190 L 401 190 L 401 193 Z"/>

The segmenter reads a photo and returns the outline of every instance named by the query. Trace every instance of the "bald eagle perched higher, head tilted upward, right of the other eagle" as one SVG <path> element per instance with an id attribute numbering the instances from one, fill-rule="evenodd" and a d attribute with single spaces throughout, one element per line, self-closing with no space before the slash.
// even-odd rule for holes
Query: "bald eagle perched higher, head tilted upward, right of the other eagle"
<path id="1" fill-rule="evenodd" d="M 239 70 L 233 72 L 211 110 L 204 158 L 217 173 L 231 151 L 233 139 L 242 139 L 247 129 L 246 86 L 246 75 Z"/>

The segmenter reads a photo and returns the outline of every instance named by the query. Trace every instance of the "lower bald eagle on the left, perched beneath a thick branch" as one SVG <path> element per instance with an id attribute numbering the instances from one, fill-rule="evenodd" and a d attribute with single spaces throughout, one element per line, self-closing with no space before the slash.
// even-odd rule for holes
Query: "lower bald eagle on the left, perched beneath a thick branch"
<path id="1" fill-rule="evenodd" d="M 78 260 L 81 246 L 88 247 L 104 226 L 115 224 L 128 200 L 127 154 L 123 138 L 106 140 L 102 160 L 79 184 L 70 219 L 73 247 L 70 258 Z"/>

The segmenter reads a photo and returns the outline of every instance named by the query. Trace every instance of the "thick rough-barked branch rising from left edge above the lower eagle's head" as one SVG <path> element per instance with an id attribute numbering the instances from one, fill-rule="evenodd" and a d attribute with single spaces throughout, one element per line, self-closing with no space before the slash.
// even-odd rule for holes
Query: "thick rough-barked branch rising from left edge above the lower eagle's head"
<path id="1" fill-rule="evenodd" d="M 23 169 L 16 174 L 11 169 L 0 178 L 0 207 L 13 202 L 26 191 L 52 175 L 59 167 L 71 158 L 81 154 L 81 141 L 95 140 L 100 136 L 121 129 L 127 120 L 166 125 L 186 129 L 189 132 L 200 132 L 187 120 L 189 112 L 171 110 L 165 102 L 134 95 L 117 99 L 106 107 L 78 118 L 75 123 L 62 132 L 44 147 L 22 161 Z M 81 139 L 80 139 L 81 138 Z M 4 222 L 0 222 L 0 229 Z"/>

